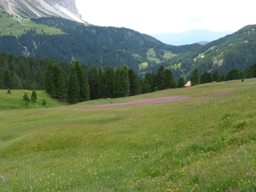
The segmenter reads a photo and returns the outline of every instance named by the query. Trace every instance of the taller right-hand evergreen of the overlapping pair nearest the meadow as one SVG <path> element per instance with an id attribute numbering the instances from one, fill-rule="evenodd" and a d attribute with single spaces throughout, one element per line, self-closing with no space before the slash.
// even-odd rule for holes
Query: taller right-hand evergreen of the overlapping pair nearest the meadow
<path id="1" fill-rule="evenodd" d="M 73 67 L 76 70 L 77 78 L 79 80 L 79 102 L 88 101 L 90 100 L 90 89 L 84 67 L 79 61 L 75 61 Z"/>

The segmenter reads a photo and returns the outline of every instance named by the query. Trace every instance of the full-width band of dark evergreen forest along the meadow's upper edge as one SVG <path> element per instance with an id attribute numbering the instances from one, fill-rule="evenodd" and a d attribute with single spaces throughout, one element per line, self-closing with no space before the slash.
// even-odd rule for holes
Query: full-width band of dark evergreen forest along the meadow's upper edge
<path id="1" fill-rule="evenodd" d="M 192 84 L 212 81 L 256 78 L 256 63 L 246 70 L 233 68 L 220 75 L 200 73 L 195 68 L 189 79 Z M 126 65 L 96 67 L 79 61 L 64 62 L 49 58 L 15 56 L 0 52 L 0 89 L 46 90 L 50 96 L 69 103 L 99 98 L 135 96 L 156 90 L 183 87 L 185 80 L 175 80 L 172 70 L 160 66 L 157 73 L 146 73 L 141 79 Z"/>

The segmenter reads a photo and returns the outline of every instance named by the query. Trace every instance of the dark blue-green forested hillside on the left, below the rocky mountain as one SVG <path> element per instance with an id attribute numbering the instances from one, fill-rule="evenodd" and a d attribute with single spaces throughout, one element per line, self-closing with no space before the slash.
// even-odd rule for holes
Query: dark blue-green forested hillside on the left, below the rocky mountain
<path id="1" fill-rule="evenodd" d="M 0 17 L 1 20 L 1 17 Z M 195 49 L 199 44 L 172 46 L 148 35 L 118 27 L 84 26 L 61 18 L 32 19 L 37 27 L 26 30 L 18 38 L 0 36 L 0 50 L 15 55 L 42 56 L 61 61 L 78 60 L 84 65 L 122 67 L 126 64 L 139 73 L 138 65 L 147 61 L 148 49 L 154 49 L 164 60 L 164 51 L 180 54 Z M 38 25 L 61 29 L 65 34 L 38 33 Z"/>

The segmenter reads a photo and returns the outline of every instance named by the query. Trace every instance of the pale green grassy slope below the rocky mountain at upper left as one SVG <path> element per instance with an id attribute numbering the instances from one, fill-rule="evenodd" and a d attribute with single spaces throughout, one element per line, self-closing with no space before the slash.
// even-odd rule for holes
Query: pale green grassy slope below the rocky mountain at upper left
<path id="1" fill-rule="evenodd" d="M 38 34 L 64 34 L 61 29 L 37 24 L 30 19 L 17 20 L 14 16 L 2 14 L 0 17 L 0 32 L 2 35 L 13 35 L 18 37 L 29 30 L 35 30 Z"/>

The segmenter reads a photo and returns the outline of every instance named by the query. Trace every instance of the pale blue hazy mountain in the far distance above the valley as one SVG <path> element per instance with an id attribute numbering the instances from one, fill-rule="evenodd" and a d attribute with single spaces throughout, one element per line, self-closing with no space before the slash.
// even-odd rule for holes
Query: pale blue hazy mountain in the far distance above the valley
<path id="1" fill-rule="evenodd" d="M 165 44 L 183 45 L 200 42 L 211 42 L 233 32 L 211 32 L 207 30 L 191 30 L 188 32 L 167 32 L 152 35 Z"/>

